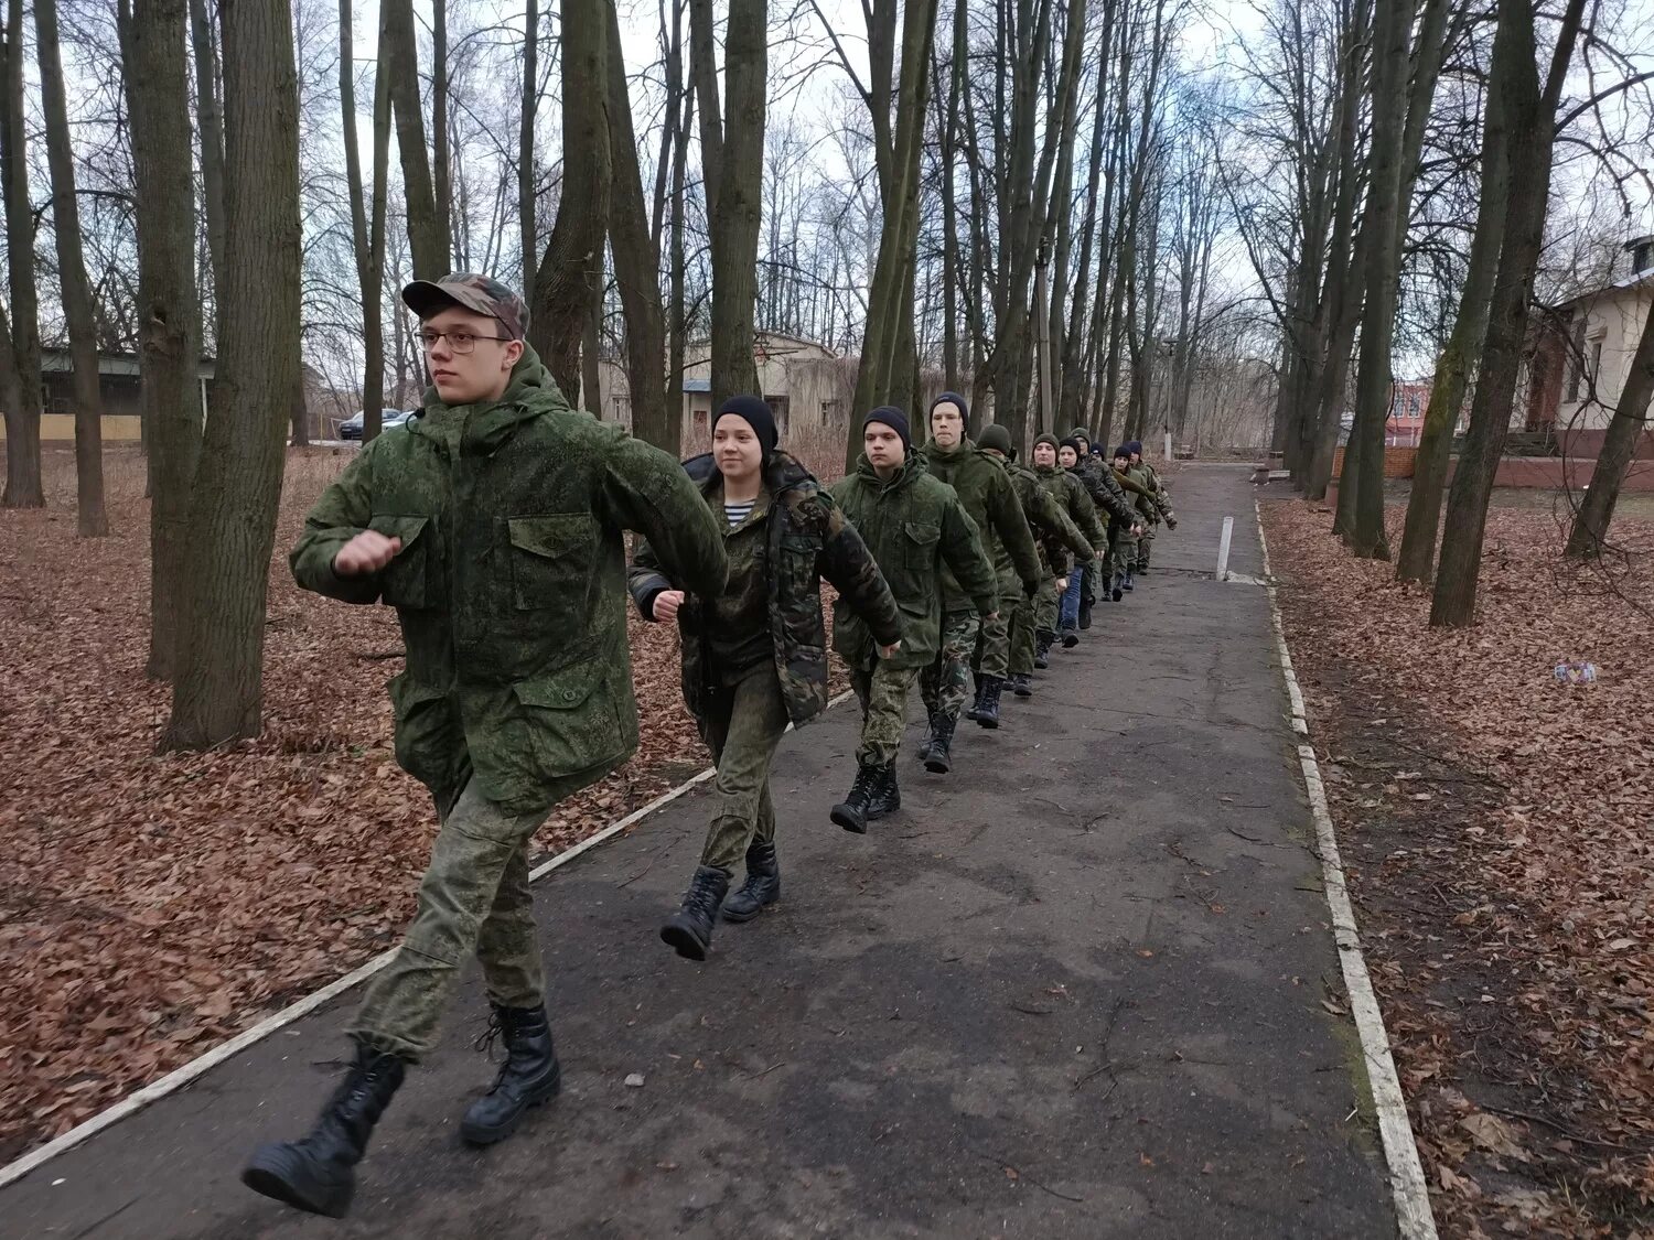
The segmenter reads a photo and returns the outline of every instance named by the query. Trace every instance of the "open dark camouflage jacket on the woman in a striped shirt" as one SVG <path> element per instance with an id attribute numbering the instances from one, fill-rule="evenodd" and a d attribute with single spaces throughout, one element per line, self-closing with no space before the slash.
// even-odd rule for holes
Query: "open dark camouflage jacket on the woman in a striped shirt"
<path id="1" fill-rule="evenodd" d="M 685 468 L 700 478 L 708 508 L 721 519 L 723 475 L 711 458 L 698 456 Z M 832 582 L 842 605 L 860 617 L 880 645 L 888 646 L 901 637 L 901 617 L 873 554 L 809 470 L 782 451 L 771 453 L 764 466 L 764 537 L 748 544 L 762 547 L 776 675 L 787 716 L 802 726 L 827 709 L 827 623 L 822 618 L 820 579 Z M 655 618 L 655 595 L 678 589 L 647 541 L 638 542 L 632 557 L 630 585 L 632 599 L 647 620 Z M 708 650 L 705 617 L 706 607 L 693 594 L 678 610 L 683 701 L 696 719 L 705 716 L 706 693 L 718 671 L 711 666 L 715 660 Z"/>

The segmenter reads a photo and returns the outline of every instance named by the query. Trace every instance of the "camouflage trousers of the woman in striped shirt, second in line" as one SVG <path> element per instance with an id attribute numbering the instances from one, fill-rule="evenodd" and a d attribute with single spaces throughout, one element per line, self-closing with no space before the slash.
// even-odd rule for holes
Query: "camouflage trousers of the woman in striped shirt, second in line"
<path id="1" fill-rule="evenodd" d="M 787 731 L 776 665 L 764 661 L 733 684 L 706 696 L 701 739 L 713 751 L 718 808 L 706 830 L 701 865 L 734 875 L 754 840 L 776 838 L 776 804 L 769 795 L 769 765 Z"/>

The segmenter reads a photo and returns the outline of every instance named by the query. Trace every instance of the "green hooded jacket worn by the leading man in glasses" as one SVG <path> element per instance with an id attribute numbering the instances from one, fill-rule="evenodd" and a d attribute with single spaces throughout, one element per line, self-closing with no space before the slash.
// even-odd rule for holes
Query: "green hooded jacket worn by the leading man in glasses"
<path id="1" fill-rule="evenodd" d="M 336 575 L 364 529 L 402 551 Z M 498 402 L 450 408 L 430 389 L 418 417 L 364 446 L 289 562 L 308 590 L 397 608 L 397 761 L 437 804 L 476 779 L 508 813 L 538 813 L 637 749 L 625 529 L 690 589 L 723 587 L 718 522 L 678 461 L 571 412 L 529 349 Z"/>

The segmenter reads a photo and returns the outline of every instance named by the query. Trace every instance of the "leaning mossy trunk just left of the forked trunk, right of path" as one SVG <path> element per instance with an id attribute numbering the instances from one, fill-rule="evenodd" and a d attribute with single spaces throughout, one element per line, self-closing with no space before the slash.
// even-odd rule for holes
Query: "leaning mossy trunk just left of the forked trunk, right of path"
<path id="1" fill-rule="evenodd" d="M 1401 534 L 1396 577 L 1404 582 L 1427 582 L 1436 570 L 1436 532 L 1441 526 L 1442 494 L 1454 428 L 1487 337 L 1487 314 L 1499 274 L 1499 253 L 1505 241 L 1505 212 L 1510 193 L 1507 165 L 1510 132 L 1499 101 L 1489 96 L 1482 131 L 1482 193 L 1475 213 L 1475 236 L 1470 240 L 1470 263 L 1459 296 L 1459 317 L 1447 347 L 1436 362 L 1431 403 L 1424 410 L 1424 432 L 1413 465 L 1413 491 L 1408 496 L 1408 524 Z"/>

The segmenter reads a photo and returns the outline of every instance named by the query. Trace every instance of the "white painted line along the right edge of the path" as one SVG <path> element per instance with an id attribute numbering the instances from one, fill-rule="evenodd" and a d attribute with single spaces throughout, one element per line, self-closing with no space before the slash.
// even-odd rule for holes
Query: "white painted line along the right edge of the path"
<path id="1" fill-rule="evenodd" d="M 1280 675 L 1292 698 L 1292 727 L 1308 734 L 1308 718 L 1303 714 L 1303 694 L 1292 671 L 1292 655 L 1287 635 L 1280 625 L 1280 603 L 1275 599 L 1274 575 L 1269 570 L 1269 539 L 1264 536 L 1264 509 L 1257 509 L 1257 537 L 1264 547 L 1264 577 L 1269 582 L 1269 613 L 1275 627 L 1275 651 L 1280 656 Z M 1361 1038 L 1361 1058 L 1366 1063 L 1366 1080 L 1373 1090 L 1373 1106 L 1378 1111 L 1378 1131 L 1384 1142 L 1384 1161 L 1389 1164 L 1389 1192 L 1396 1202 L 1396 1223 L 1403 1240 L 1436 1240 L 1436 1217 L 1431 1214 L 1431 1194 L 1424 1185 L 1424 1167 L 1419 1147 L 1408 1119 L 1408 1103 L 1401 1095 L 1401 1078 L 1396 1060 L 1389 1053 L 1389 1035 L 1384 1032 L 1384 1015 L 1378 1010 L 1373 979 L 1361 954 L 1361 936 L 1345 885 L 1343 860 L 1338 855 L 1338 833 L 1327 808 L 1327 785 L 1315 759 L 1315 746 L 1298 746 L 1298 764 L 1303 767 L 1303 789 L 1310 795 L 1310 813 L 1315 818 L 1315 848 L 1322 858 L 1322 883 L 1327 888 L 1327 908 L 1333 919 L 1333 942 L 1338 944 L 1338 964 L 1343 967 L 1345 992 L 1350 995 L 1350 1015 Z"/>

